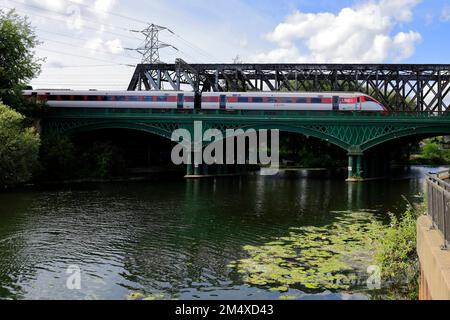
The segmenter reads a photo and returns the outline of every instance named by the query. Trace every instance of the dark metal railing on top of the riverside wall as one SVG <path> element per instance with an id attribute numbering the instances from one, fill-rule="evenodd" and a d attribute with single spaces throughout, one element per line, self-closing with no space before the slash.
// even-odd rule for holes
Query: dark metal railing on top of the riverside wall
<path id="1" fill-rule="evenodd" d="M 433 228 L 444 237 L 442 249 L 450 245 L 450 171 L 430 173 L 427 175 L 428 216 Z"/>

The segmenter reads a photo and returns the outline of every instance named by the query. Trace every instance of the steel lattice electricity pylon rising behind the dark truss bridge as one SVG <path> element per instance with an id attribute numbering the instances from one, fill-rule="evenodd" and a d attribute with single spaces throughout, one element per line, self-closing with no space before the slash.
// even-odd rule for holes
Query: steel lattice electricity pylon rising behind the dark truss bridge
<path id="1" fill-rule="evenodd" d="M 175 35 L 175 33 L 172 30 L 170 30 L 166 27 L 158 26 L 153 23 L 141 31 L 131 30 L 131 32 L 140 33 L 145 36 L 144 46 L 137 48 L 137 49 L 131 49 L 131 48 L 126 48 L 126 49 L 139 52 L 142 55 L 142 64 L 161 63 L 159 49 L 170 47 L 170 48 L 175 49 L 176 51 L 179 51 L 173 45 L 159 41 L 159 33 L 161 31 L 167 31 L 167 32 Z"/>

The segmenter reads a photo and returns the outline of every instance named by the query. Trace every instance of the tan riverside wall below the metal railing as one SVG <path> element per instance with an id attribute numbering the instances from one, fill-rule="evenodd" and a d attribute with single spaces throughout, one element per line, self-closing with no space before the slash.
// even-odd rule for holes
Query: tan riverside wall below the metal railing
<path id="1" fill-rule="evenodd" d="M 421 300 L 450 300 L 450 251 L 443 251 L 443 237 L 431 230 L 431 220 L 422 216 L 417 222 Z"/>

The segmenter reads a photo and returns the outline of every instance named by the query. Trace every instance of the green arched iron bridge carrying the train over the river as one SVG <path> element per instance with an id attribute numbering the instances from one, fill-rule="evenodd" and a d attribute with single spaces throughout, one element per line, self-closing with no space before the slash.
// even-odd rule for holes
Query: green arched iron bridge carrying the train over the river
<path id="1" fill-rule="evenodd" d="M 176 129 L 279 129 L 328 141 L 349 155 L 349 179 L 384 176 L 389 158 L 382 146 L 402 138 L 450 135 L 450 115 L 431 113 L 334 113 L 269 111 L 201 111 L 149 109 L 50 109 L 44 129 L 75 134 L 100 129 L 131 129 L 171 139 Z M 398 147 L 398 144 L 396 145 Z M 188 175 L 207 168 L 188 165 Z"/>

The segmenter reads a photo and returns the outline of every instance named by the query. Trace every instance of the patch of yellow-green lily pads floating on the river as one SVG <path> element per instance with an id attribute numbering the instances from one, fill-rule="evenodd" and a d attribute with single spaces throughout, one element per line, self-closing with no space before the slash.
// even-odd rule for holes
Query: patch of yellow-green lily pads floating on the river
<path id="1" fill-rule="evenodd" d="M 248 257 L 229 267 L 250 285 L 280 292 L 346 290 L 372 264 L 381 232 L 382 224 L 371 213 L 336 213 L 327 227 L 291 228 L 286 237 L 245 246 Z"/>

